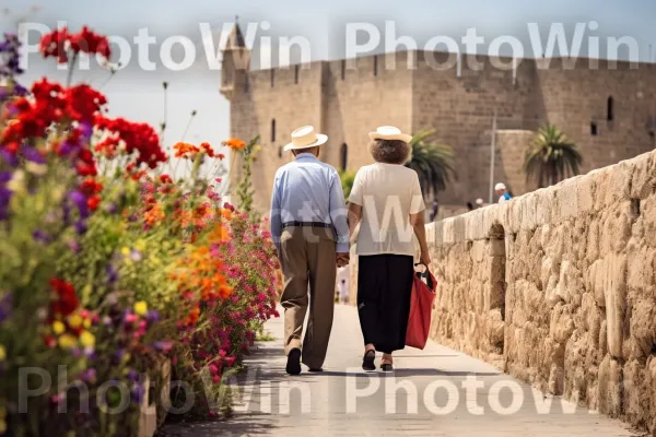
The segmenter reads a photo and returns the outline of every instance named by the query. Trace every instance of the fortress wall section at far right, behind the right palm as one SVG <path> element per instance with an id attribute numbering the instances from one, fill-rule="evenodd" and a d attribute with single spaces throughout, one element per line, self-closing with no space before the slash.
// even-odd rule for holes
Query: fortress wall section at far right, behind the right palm
<path id="1" fill-rule="evenodd" d="M 656 119 L 656 79 L 654 66 L 579 59 L 566 69 L 563 59 L 553 59 L 550 69 L 539 69 L 536 61 L 524 61 L 535 69 L 537 92 L 541 95 L 537 113 L 544 121 L 557 125 L 581 149 L 582 170 L 589 172 L 653 150 L 656 142 L 647 123 Z M 594 61 L 593 61 L 594 62 Z M 607 119 L 608 97 L 613 97 L 614 119 Z M 597 125 L 597 135 L 590 123 Z M 622 144 L 622 145 L 618 145 Z"/>

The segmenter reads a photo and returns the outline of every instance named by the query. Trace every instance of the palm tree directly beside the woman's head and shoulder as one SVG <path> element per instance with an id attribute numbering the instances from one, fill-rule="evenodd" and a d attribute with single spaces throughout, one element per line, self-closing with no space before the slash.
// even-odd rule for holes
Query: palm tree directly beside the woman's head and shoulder
<path id="1" fill-rule="evenodd" d="M 425 142 L 434 133 L 434 130 L 424 130 L 412 137 L 412 157 L 406 164 L 406 167 L 412 168 L 419 175 L 424 196 L 443 191 L 452 176 L 456 175 L 452 147 Z"/>

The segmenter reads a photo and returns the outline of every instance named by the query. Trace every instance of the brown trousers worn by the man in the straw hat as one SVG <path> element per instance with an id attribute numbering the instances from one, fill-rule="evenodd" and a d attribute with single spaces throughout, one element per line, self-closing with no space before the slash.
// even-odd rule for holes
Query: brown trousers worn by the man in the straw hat
<path id="1" fill-rule="evenodd" d="M 320 368 L 326 358 L 335 306 L 336 246 L 331 228 L 289 227 L 280 238 L 284 275 L 284 352 L 302 350 L 303 364 Z M 308 298 L 309 297 L 309 298 Z M 303 342 L 303 322 L 309 320 Z"/>

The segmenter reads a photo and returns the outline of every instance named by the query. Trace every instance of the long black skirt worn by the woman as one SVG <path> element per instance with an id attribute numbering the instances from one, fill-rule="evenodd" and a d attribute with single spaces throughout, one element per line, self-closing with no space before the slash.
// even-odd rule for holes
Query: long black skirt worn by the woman
<path id="1" fill-rule="evenodd" d="M 358 267 L 358 314 L 364 344 L 390 354 L 406 346 L 413 257 L 361 256 Z"/>

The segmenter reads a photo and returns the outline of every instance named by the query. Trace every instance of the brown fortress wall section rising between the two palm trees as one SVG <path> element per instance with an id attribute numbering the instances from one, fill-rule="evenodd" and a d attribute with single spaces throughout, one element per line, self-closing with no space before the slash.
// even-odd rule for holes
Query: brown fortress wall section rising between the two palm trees
<path id="1" fill-rule="evenodd" d="M 493 59 L 477 57 L 480 70 L 473 70 L 467 56 L 456 67 L 438 71 L 429 57 L 444 63 L 447 54 L 420 54 L 413 80 L 412 130 L 435 129 L 435 142 L 450 145 L 455 153 L 457 180 L 440 193 L 442 203 L 488 199 L 490 143 L 494 111 L 499 129 L 520 128 L 524 118 L 526 81 L 513 82 L 512 70 L 499 70 Z M 501 59 L 512 64 L 511 59 Z M 434 61 L 432 61 L 434 62 Z M 499 180 L 504 180 L 499 174 Z"/>

